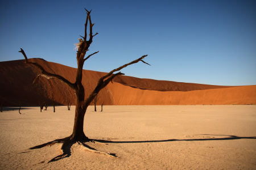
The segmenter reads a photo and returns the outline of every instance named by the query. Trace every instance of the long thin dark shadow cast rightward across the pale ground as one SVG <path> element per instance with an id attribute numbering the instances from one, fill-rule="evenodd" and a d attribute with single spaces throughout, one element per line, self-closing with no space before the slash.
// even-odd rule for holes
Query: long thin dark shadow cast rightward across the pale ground
<path id="1" fill-rule="evenodd" d="M 235 135 L 211 135 L 211 134 L 202 134 L 210 136 L 228 136 L 225 138 L 203 138 L 203 139 L 166 139 L 166 140 L 154 140 L 154 141 L 108 141 L 108 140 L 94 140 L 101 143 L 149 143 L 149 142 L 172 142 L 172 141 L 227 141 L 227 140 L 237 140 L 237 139 L 256 139 L 256 137 L 238 137 Z"/>

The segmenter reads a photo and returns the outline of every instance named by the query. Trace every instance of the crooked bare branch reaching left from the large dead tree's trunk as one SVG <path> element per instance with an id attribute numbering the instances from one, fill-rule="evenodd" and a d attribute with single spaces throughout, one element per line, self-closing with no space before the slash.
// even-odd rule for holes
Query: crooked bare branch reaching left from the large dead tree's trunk
<path id="1" fill-rule="evenodd" d="M 36 62 L 28 62 L 28 61 L 27 61 L 27 56 L 26 56 L 26 54 L 25 54 L 25 52 L 24 52 L 24 50 L 23 50 L 22 48 L 20 48 L 20 51 L 19 51 L 19 52 L 23 54 L 23 56 L 24 56 L 24 58 L 25 58 L 25 63 L 26 63 L 26 64 L 34 65 L 34 66 L 38 67 L 38 69 L 41 70 L 41 73 L 42 73 L 42 74 L 39 74 L 39 75 L 35 78 L 35 80 L 34 80 L 33 83 L 36 82 L 36 80 L 39 78 L 39 76 L 43 76 L 44 78 L 47 78 L 47 79 L 57 78 L 57 79 L 61 80 L 62 82 L 68 84 L 69 87 L 71 87 L 73 90 L 75 90 L 74 84 L 71 83 L 71 82 L 69 82 L 69 80 L 63 78 L 63 76 L 60 76 L 60 75 L 57 75 L 57 74 L 48 73 L 46 70 L 44 70 L 44 68 L 43 68 L 42 66 L 40 66 L 40 65 L 39 65 L 38 63 L 36 63 Z"/>

